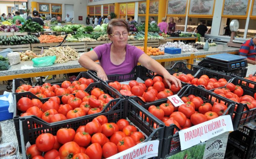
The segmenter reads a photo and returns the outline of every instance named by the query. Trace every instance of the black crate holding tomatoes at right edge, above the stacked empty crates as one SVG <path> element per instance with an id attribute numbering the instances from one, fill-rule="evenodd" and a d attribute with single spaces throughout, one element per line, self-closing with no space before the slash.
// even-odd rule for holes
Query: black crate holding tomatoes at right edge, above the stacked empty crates
<path id="1" fill-rule="evenodd" d="M 256 92 L 256 82 L 253 82 L 251 80 L 247 80 L 244 78 L 240 78 L 240 77 L 234 77 L 229 81 L 229 83 L 232 83 L 234 85 L 240 85 L 244 90 L 243 96 L 249 95 L 254 97 L 254 93 Z M 249 85 L 251 87 L 249 87 Z M 225 88 L 225 86 L 220 88 Z M 214 89 L 210 91 L 214 91 Z M 256 118 L 256 108 L 249 109 L 246 104 L 241 104 L 236 102 L 236 107 L 234 112 L 236 113 L 236 121 L 238 122 L 238 127 L 241 127 L 247 124 L 248 122 L 253 121 Z"/>

